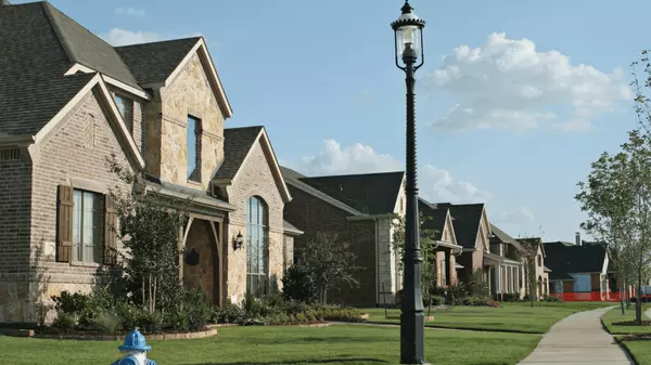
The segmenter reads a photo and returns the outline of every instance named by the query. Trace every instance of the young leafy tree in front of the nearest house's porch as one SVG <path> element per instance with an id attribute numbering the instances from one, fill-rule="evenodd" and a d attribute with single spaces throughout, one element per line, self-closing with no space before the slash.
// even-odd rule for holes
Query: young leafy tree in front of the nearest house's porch
<path id="1" fill-rule="evenodd" d="M 122 258 L 127 290 L 149 313 L 173 308 L 181 294 L 178 242 L 190 201 L 166 198 L 155 192 L 145 194 L 142 188 L 145 171 L 131 172 L 114 155 L 106 165 L 129 186 L 111 188 L 119 218 L 119 229 L 113 231 L 126 248 L 125 255 L 114 253 Z"/>

